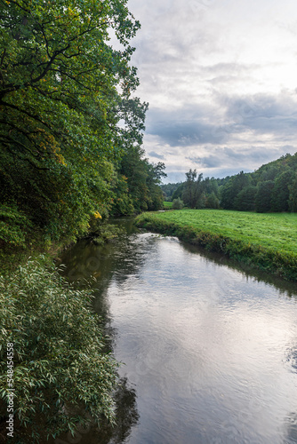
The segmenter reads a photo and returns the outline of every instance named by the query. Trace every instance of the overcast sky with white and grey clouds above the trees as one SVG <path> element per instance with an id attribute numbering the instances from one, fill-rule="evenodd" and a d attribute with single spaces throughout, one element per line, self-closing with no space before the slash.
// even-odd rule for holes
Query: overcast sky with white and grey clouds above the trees
<path id="1" fill-rule="evenodd" d="M 296 0 L 129 0 L 144 148 L 165 182 L 253 171 L 297 151 Z"/>

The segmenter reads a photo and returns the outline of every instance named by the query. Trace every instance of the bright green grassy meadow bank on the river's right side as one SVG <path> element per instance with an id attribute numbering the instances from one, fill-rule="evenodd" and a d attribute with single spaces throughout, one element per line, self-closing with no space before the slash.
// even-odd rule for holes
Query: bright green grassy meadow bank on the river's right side
<path id="1" fill-rule="evenodd" d="M 137 225 L 297 281 L 297 214 L 230 210 L 144 213 Z"/>

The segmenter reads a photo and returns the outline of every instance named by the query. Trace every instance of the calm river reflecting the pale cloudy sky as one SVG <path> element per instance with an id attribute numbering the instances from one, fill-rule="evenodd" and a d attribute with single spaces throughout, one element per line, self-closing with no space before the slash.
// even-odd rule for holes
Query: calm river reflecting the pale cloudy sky
<path id="1" fill-rule="evenodd" d="M 297 443 L 297 284 L 249 274 L 174 238 L 79 242 L 120 368 L 114 431 L 81 444 Z"/>

